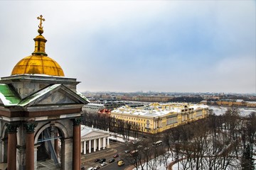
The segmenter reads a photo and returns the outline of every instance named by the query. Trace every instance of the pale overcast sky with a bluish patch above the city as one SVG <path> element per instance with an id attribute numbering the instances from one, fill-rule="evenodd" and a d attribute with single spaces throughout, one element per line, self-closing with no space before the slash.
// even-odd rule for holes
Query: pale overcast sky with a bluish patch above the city
<path id="1" fill-rule="evenodd" d="M 255 1 L 0 1 L 0 77 L 46 53 L 79 91 L 256 93 Z"/>

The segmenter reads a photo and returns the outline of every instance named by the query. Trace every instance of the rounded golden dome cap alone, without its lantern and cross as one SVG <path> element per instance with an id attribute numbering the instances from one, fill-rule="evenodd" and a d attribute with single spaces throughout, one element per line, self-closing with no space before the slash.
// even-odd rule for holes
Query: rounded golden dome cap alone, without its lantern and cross
<path id="1" fill-rule="evenodd" d="M 11 75 L 15 74 L 46 74 L 64 77 L 63 69 L 55 60 L 43 55 L 30 55 L 19 61 Z"/>

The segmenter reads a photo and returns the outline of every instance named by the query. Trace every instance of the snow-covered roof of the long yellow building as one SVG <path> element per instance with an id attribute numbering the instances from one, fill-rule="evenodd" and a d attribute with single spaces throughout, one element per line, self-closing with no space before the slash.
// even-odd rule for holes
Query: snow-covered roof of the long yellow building
<path id="1" fill-rule="evenodd" d="M 169 113 L 181 113 L 185 108 L 193 108 L 193 111 L 208 108 L 203 104 L 188 104 L 188 103 L 150 103 L 147 106 L 131 108 L 129 106 L 122 106 L 117 108 L 111 113 L 122 113 L 132 115 L 144 115 L 144 116 L 161 116 Z"/>

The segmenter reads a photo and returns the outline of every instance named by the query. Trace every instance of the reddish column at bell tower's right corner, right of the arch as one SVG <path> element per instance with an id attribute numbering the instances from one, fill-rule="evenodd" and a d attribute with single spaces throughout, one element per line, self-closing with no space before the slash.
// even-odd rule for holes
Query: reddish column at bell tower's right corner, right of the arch
<path id="1" fill-rule="evenodd" d="M 80 170 L 81 161 L 81 136 L 80 136 L 81 118 L 73 120 L 73 170 Z"/>

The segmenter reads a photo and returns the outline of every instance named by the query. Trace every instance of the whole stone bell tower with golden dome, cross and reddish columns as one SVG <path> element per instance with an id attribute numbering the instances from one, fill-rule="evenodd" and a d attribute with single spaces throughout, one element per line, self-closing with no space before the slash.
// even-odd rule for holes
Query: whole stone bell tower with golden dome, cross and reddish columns
<path id="1" fill-rule="evenodd" d="M 0 80 L 0 162 L 8 169 L 80 169 L 82 106 L 90 101 L 76 79 L 46 54 L 43 16 L 38 17 L 35 50 Z"/>

